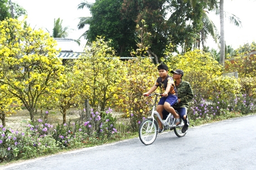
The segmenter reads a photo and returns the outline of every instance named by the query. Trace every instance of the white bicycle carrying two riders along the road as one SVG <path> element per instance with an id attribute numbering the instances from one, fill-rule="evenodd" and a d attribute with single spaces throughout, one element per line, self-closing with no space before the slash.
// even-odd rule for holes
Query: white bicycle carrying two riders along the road
<path id="1" fill-rule="evenodd" d="M 140 128 L 139 128 L 140 141 L 145 145 L 150 145 L 156 140 L 156 136 L 159 131 L 159 125 L 154 115 L 156 115 L 158 119 L 161 121 L 161 123 L 163 124 L 163 127 L 164 127 L 163 130 L 174 130 L 174 133 L 176 136 L 178 137 L 185 136 L 187 131 L 184 133 L 181 132 L 181 129 L 184 126 L 184 122 L 182 119 L 180 119 L 179 125 L 175 125 L 175 118 L 170 113 L 165 120 L 161 119 L 159 113 L 155 110 L 155 108 L 156 108 L 157 97 L 163 96 L 163 95 L 159 93 L 152 93 L 146 96 L 154 96 L 154 95 L 155 95 L 155 102 L 154 102 L 154 105 L 152 106 L 151 116 L 144 119 L 140 124 Z"/>

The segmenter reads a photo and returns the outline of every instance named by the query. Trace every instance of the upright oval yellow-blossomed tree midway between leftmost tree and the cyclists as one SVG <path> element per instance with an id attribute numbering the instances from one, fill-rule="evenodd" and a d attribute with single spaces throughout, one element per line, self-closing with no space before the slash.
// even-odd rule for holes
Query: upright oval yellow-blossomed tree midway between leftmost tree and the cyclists
<path id="1" fill-rule="evenodd" d="M 93 110 L 104 111 L 112 106 L 122 88 L 120 82 L 125 79 L 122 61 L 109 43 L 99 37 L 73 64 L 81 101 L 88 99 Z"/>

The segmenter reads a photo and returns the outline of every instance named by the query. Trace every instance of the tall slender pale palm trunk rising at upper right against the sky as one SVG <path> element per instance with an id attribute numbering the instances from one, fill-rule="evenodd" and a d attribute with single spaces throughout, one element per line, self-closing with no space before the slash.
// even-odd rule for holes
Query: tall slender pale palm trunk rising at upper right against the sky
<path id="1" fill-rule="evenodd" d="M 224 0 L 220 0 L 220 64 L 225 62 Z"/>

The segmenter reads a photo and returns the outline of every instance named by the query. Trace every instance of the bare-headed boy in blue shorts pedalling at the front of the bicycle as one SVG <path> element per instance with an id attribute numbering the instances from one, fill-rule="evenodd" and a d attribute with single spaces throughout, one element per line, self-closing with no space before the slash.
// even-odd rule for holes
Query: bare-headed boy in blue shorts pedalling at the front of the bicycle
<path id="1" fill-rule="evenodd" d="M 178 99 L 177 90 L 174 84 L 174 80 L 171 76 L 168 75 L 168 66 L 165 64 L 160 64 L 157 66 L 157 70 L 159 71 L 159 78 L 157 78 L 155 85 L 151 87 L 151 89 L 145 92 L 143 95 L 149 95 L 154 92 L 157 87 L 161 88 L 161 92 L 163 92 L 163 97 L 160 98 L 159 103 L 156 107 L 156 111 L 163 119 L 163 110 L 170 112 L 174 115 L 176 119 L 176 125 L 180 123 L 180 116 L 176 114 L 175 110 L 173 109 L 173 105 L 176 104 Z M 163 131 L 163 125 L 159 119 L 157 119 L 159 124 L 159 133 Z"/>

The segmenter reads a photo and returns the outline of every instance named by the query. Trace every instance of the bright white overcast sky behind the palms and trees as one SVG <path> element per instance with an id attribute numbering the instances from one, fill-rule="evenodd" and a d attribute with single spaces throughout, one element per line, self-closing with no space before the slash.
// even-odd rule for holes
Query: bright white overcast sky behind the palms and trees
<path id="1" fill-rule="evenodd" d="M 42 28 L 49 30 L 52 34 L 54 19 L 61 18 L 62 26 L 69 27 L 70 32 L 67 38 L 78 39 L 84 33 L 88 26 L 78 30 L 78 17 L 90 16 L 90 11 L 87 8 L 77 9 L 78 4 L 83 0 L 12 0 L 18 3 L 27 10 L 27 23 L 32 28 Z M 87 0 L 87 2 L 95 2 L 95 0 Z M 225 40 L 227 45 L 232 45 L 237 49 L 245 43 L 256 41 L 256 0 L 224 0 L 224 11 L 234 14 L 242 21 L 242 28 L 238 28 L 229 24 L 225 20 Z M 220 29 L 219 16 L 210 13 L 210 18 L 213 20 L 217 28 Z M 73 30 L 72 30 L 73 29 Z M 82 51 L 86 40 L 82 40 L 81 47 L 75 51 Z M 206 46 L 217 49 L 212 38 L 207 40 Z"/>

